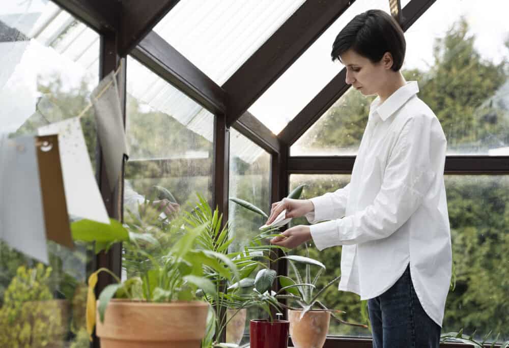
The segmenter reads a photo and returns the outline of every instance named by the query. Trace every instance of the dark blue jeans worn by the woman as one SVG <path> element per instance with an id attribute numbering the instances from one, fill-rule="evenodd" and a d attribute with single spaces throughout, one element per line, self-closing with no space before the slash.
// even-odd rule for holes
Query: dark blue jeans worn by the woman
<path id="1" fill-rule="evenodd" d="M 410 266 L 385 293 L 367 301 L 374 348 L 438 348 L 438 326 L 422 309 Z"/>

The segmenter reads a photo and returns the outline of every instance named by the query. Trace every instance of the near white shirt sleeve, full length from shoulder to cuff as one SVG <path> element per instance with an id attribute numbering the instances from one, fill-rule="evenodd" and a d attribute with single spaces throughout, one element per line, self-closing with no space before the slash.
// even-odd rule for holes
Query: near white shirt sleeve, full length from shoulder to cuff
<path id="1" fill-rule="evenodd" d="M 445 161 L 445 151 L 430 153 L 433 142 L 446 142 L 444 137 L 436 137 L 437 129 L 432 132 L 432 124 L 436 128 L 437 123 L 423 115 L 405 123 L 387 159 L 382 185 L 373 203 L 343 219 L 310 226 L 319 250 L 389 237 L 410 218 L 435 180 L 437 173 L 433 168 L 437 166 L 432 162 Z"/>

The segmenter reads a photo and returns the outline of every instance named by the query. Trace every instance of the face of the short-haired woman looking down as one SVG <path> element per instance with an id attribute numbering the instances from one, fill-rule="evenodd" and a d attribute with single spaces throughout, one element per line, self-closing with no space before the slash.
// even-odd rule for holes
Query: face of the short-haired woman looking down
<path id="1" fill-rule="evenodd" d="M 390 54 L 386 53 L 382 60 L 373 64 L 366 57 L 349 49 L 340 54 L 340 60 L 347 68 L 346 83 L 351 84 L 356 90 L 364 96 L 379 94 L 386 84 L 387 73 L 390 71 L 390 65 L 387 59 L 392 61 Z M 387 66 L 389 70 L 387 70 Z"/>

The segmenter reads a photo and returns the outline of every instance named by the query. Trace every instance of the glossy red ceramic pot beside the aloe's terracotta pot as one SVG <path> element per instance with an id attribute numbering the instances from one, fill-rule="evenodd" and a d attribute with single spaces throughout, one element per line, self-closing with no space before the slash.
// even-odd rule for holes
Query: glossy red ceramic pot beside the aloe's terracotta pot
<path id="1" fill-rule="evenodd" d="M 249 323 L 250 348 L 288 348 L 290 322 L 254 319 Z"/>

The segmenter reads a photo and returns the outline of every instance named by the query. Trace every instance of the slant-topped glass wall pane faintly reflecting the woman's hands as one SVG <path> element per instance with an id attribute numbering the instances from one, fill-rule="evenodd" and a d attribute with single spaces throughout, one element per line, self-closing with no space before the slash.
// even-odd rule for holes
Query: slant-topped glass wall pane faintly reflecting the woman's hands
<path id="1" fill-rule="evenodd" d="M 214 115 L 130 57 L 126 114 L 125 220 L 140 217 L 145 198 L 163 199 L 155 186 L 171 192 L 179 209 L 193 209 L 197 194 L 210 204 Z M 129 267 L 123 271 L 125 278 Z"/>

